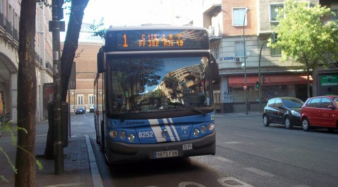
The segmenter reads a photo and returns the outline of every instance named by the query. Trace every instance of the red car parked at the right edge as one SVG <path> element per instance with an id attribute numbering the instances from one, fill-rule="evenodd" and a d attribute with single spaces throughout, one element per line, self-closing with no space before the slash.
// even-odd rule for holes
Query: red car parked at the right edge
<path id="1" fill-rule="evenodd" d="M 302 107 L 302 127 L 325 127 L 329 131 L 338 128 L 338 96 L 319 96 L 306 100 Z"/>

